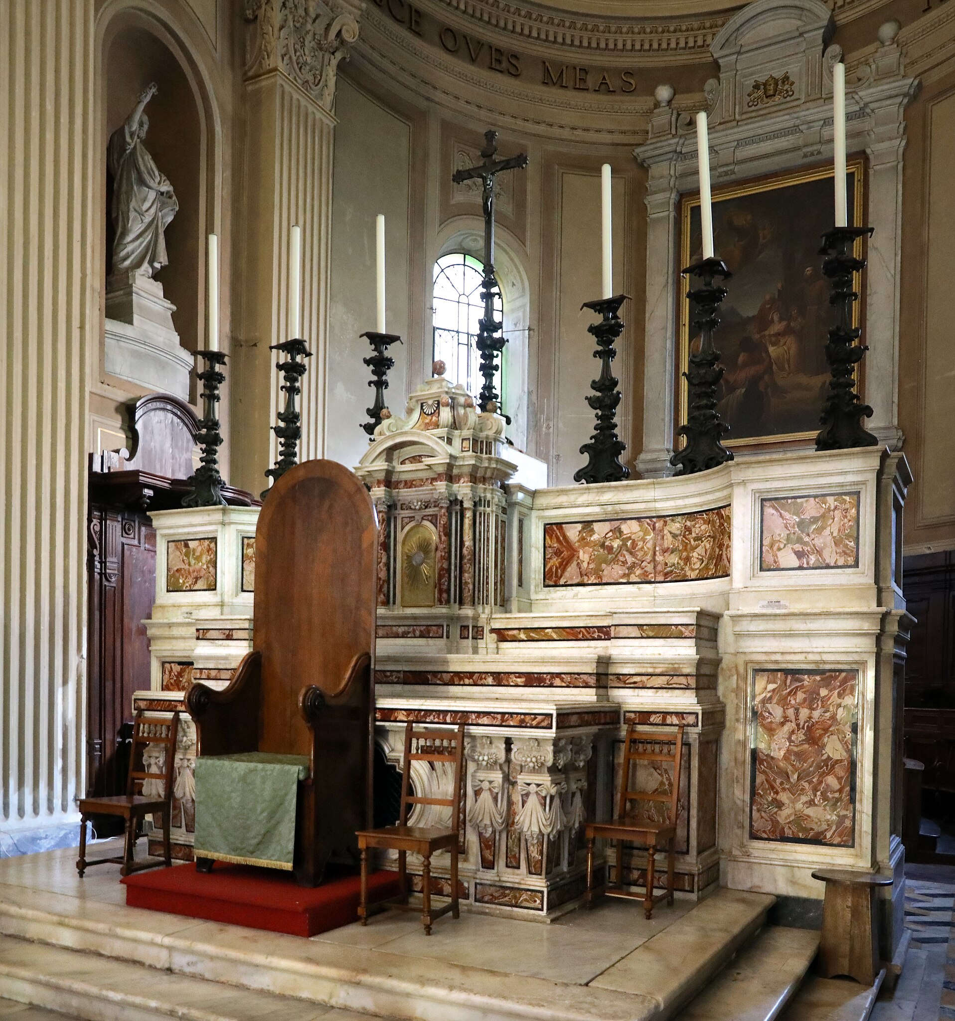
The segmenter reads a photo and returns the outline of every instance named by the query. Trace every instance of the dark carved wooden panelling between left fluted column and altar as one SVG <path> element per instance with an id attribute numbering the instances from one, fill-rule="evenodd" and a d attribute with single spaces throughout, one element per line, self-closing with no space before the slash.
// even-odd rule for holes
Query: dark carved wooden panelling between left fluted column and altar
<path id="1" fill-rule="evenodd" d="M 133 692 L 149 688 L 156 532 L 141 512 L 91 503 L 87 534 L 87 796 L 101 797 L 125 789 Z"/>

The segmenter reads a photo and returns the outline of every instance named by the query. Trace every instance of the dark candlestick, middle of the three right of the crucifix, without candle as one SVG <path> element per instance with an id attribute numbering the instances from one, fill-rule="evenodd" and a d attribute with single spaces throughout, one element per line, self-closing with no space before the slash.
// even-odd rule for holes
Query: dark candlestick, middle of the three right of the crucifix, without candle
<path id="1" fill-rule="evenodd" d="M 694 325 L 700 331 L 700 345 L 691 349 L 687 380 L 687 424 L 678 435 L 686 438 L 682 450 L 670 457 L 675 475 L 696 475 L 711 468 L 718 468 L 733 460 L 732 451 L 722 445 L 722 437 L 730 427 L 716 410 L 716 387 L 725 372 L 719 363 L 720 352 L 713 347 L 713 331 L 719 325 L 717 309 L 727 291 L 713 281 L 718 277 L 728 280 L 733 276 L 722 259 L 704 258 L 681 271 L 683 277 L 699 277 L 702 287 L 688 291 L 695 306 Z"/>

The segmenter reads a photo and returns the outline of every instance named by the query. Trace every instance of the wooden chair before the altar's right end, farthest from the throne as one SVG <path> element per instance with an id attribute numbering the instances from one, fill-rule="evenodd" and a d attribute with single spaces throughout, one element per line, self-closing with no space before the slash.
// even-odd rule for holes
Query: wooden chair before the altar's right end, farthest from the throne
<path id="1" fill-rule="evenodd" d="M 676 840 L 676 801 L 680 796 L 680 771 L 683 763 L 683 727 L 676 728 L 675 737 L 661 737 L 659 734 L 641 734 L 632 724 L 626 731 L 623 746 L 623 763 L 620 768 L 620 794 L 617 803 L 617 817 L 606 823 L 588 823 L 587 837 L 587 892 L 586 905 L 593 903 L 594 890 L 594 840 L 603 837 L 615 840 L 617 845 L 616 883 L 606 883 L 602 892 L 608 896 L 623 896 L 643 901 L 644 914 L 652 918 L 653 906 L 666 897 L 668 906 L 673 904 L 673 844 Z M 672 746 L 672 750 L 668 749 Z M 672 766 L 672 786 L 668 792 L 632 790 L 631 767 L 634 763 L 656 763 L 665 772 Z M 643 801 L 646 808 L 636 812 L 630 810 L 632 801 Z M 659 807 L 665 807 L 660 812 Z M 647 886 L 643 896 L 631 891 L 623 884 L 623 841 L 642 843 L 647 847 Z M 654 895 L 654 868 L 658 849 L 666 846 L 666 889 Z M 601 892 L 597 890 L 596 892 Z"/>

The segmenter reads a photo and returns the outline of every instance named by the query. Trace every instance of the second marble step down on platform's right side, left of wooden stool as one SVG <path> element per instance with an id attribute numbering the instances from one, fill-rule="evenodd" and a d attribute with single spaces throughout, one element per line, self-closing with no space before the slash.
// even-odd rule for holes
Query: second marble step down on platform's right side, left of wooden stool
<path id="1" fill-rule="evenodd" d="M 802 985 L 818 945 L 819 933 L 809 929 L 764 928 L 676 1021 L 774 1021 Z"/>

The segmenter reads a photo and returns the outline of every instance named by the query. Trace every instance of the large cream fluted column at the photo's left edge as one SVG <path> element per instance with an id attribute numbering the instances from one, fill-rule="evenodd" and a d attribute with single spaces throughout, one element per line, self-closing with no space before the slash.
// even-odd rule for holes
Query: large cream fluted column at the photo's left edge
<path id="1" fill-rule="evenodd" d="M 18 842 L 84 790 L 92 0 L 0 3 L 0 836 Z"/>

